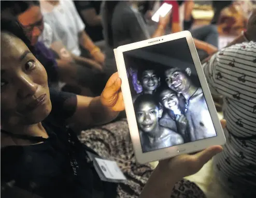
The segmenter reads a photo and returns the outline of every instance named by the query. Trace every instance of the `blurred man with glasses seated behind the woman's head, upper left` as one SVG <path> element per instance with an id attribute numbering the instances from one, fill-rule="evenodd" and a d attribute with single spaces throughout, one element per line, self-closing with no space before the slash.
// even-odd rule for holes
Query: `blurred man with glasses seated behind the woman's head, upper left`
<path id="1" fill-rule="evenodd" d="M 68 84 L 65 90 L 76 94 L 93 96 L 102 92 L 106 81 L 101 85 L 100 80 L 95 83 L 93 78 L 94 75 L 99 75 L 99 79 L 104 79 L 102 66 L 92 59 L 72 55 L 66 50 L 58 35 L 43 21 L 39 1 L 2 1 L 1 17 L 5 17 L 6 20 L 17 20 L 21 25 L 35 49 L 37 58 L 47 70 L 50 86 L 61 89 L 65 85 L 60 84 L 61 81 Z M 46 38 L 42 39 L 42 36 Z M 55 47 L 54 42 L 58 42 Z M 88 88 L 89 85 L 94 85 L 93 91 L 97 92 L 96 94 Z"/>

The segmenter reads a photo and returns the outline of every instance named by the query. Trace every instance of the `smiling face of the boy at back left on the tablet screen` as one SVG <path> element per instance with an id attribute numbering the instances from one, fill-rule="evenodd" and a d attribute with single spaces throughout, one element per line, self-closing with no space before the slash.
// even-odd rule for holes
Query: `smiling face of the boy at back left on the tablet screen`
<path id="1" fill-rule="evenodd" d="M 140 84 L 146 91 L 153 91 L 159 85 L 159 78 L 154 70 L 145 70 L 141 75 Z"/>

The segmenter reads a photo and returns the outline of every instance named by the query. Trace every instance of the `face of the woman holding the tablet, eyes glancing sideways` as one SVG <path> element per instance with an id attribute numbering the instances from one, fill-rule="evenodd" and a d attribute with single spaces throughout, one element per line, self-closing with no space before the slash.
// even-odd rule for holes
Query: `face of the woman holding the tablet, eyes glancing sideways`
<path id="1" fill-rule="evenodd" d="M 1 125 L 39 123 L 50 111 L 45 68 L 19 38 L 1 33 Z"/>

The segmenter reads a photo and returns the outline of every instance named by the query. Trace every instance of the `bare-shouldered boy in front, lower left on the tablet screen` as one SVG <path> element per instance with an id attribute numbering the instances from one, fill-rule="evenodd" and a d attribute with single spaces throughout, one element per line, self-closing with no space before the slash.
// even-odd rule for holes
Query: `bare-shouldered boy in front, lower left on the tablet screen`
<path id="1" fill-rule="evenodd" d="M 143 152 L 183 143 L 181 135 L 159 125 L 163 110 L 152 95 L 138 96 L 134 102 L 134 109 Z"/>

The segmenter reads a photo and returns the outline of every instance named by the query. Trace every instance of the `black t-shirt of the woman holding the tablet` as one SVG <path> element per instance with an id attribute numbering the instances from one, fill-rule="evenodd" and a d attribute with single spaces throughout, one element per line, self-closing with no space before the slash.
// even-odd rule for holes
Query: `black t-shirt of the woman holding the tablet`
<path id="1" fill-rule="evenodd" d="M 53 110 L 42 121 L 49 138 L 41 144 L 2 148 L 1 181 L 15 180 L 16 187 L 47 198 L 116 197 L 116 184 L 101 181 L 86 154 L 94 151 L 61 121 L 74 114 L 76 95 L 53 89 L 50 94 Z"/>

